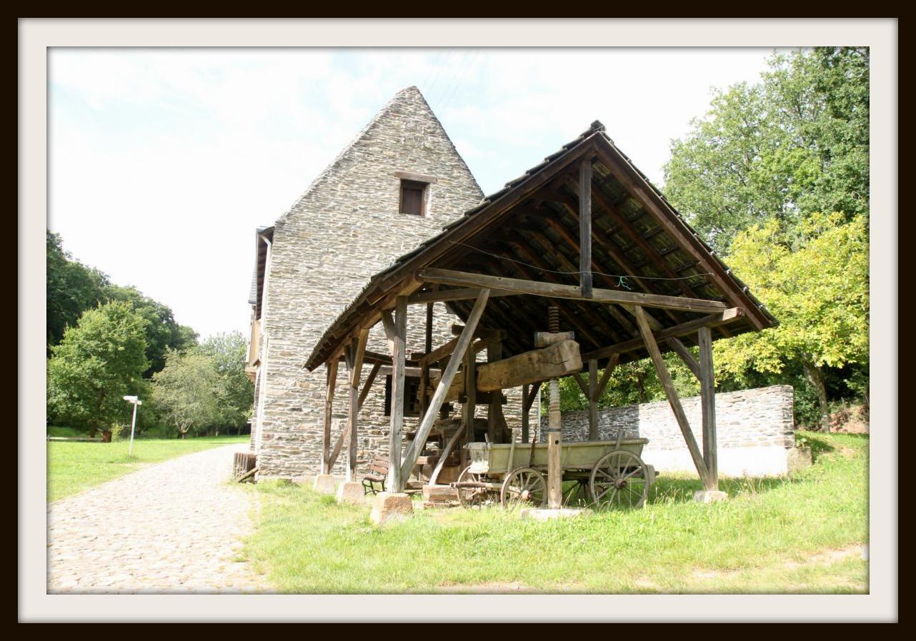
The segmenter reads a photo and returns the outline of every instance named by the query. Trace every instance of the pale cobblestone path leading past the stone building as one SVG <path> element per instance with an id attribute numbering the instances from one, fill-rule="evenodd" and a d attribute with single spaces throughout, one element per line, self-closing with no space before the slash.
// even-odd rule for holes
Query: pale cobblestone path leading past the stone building
<path id="1" fill-rule="evenodd" d="M 229 445 L 48 505 L 48 592 L 270 592 L 235 561 L 255 498 L 226 483 Z"/>

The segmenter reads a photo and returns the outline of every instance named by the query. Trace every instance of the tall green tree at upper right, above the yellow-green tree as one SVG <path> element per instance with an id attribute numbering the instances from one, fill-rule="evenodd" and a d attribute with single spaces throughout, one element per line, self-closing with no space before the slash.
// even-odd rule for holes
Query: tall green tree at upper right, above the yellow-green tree
<path id="1" fill-rule="evenodd" d="M 777 54 L 769 67 L 714 92 L 665 166 L 668 198 L 723 253 L 770 219 L 868 212 L 868 50 Z"/>

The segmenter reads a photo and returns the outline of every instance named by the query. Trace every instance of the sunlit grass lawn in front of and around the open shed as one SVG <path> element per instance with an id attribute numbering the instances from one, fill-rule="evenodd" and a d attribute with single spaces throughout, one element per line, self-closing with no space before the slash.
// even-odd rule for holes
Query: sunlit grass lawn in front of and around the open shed
<path id="1" fill-rule="evenodd" d="M 799 436 L 811 468 L 725 480 L 728 501 L 662 476 L 645 509 L 548 523 L 456 508 L 374 527 L 368 506 L 259 483 L 245 556 L 279 592 L 867 593 L 867 436 Z"/>

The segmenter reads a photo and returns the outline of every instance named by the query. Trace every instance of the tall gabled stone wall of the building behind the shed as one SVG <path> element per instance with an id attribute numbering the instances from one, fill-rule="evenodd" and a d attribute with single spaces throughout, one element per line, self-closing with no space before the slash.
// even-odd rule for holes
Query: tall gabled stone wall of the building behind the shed
<path id="1" fill-rule="evenodd" d="M 435 177 L 427 190 L 425 216 L 401 214 L 396 172 Z M 267 344 L 263 419 L 253 439 L 262 476 L 318 473 L 322 456 L 324 368 L 303 368 L 323 331 L 368 282 L 398 255 L 442 231 L 483 194 L 419 90 L 410 87 L 376 115 L 354 142 L 315 179 L 274 226 L 263 339 Z M 408 308 L 408 352 L 424 351 L 425 305 Z M 433 346 L 453 338 L 457 322 L 444 304 L 434 306 Z M 381 324 L 368 349 L 387 353 Z M 478 354 L 480 359 L 485 354 Z M 363 369 L 363 380 L 370 366 Z M 508 395 L 507 419 L 520 422 L 518 391 Z M 387 451 L 390 419 L 385 376 L 379 375 L 359 415 L 359 459 Z M 338 373 L 332 440 L 344 428 L 346 368 Z M 457 407 L 455 407 L 457 411 Z M 485 411 L 481 407 L 478 411 Z M 533 412 L 532 412 L 533 413 Z M 416 418 L 405 419 L 414 429 Z M 334 473 L 344 469 L 346 453 Z"/>

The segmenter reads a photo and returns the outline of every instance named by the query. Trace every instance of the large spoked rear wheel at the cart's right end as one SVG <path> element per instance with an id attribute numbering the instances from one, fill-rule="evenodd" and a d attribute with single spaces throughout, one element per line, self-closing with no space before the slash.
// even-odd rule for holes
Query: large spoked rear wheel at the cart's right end
<path id="1" fill-rule="evenodd" d="M 588 490 L 596 505 L 641 507 L 649 497 L 651 472 L 636 454 L 615 450 L 594 466 Z"/>

